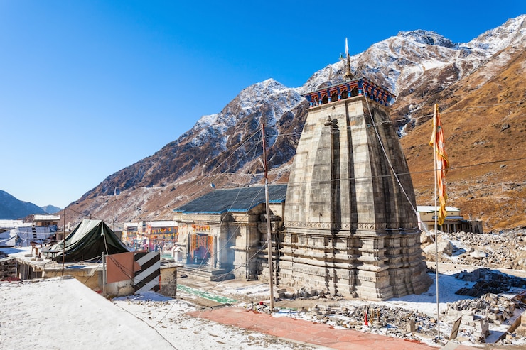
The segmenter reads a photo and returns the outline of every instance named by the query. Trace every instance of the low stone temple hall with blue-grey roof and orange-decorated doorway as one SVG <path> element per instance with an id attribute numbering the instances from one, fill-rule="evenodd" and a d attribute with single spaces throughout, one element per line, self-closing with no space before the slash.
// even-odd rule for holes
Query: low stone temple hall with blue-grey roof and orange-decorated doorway
<path id="1" fill-rule="evenodd" d="M 286 185 L 269 186 L 272 234 L 281 229 L 285 196 Z M 175 212 L 180 230 L 176 261 L 246 280 L 260 279 L 264 266 L 268 268 L 263 186 L 213 190 Z"/>

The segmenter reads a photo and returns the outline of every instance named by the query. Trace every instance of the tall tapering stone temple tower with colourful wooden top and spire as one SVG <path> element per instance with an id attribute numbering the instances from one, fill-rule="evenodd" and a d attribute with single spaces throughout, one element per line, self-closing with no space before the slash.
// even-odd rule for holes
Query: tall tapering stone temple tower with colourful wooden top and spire
<path id="1" fill-rule="evenodd" d="M 394 95 L 353 79 L 310 102 L 289 177 L 279 283 L 387 300 L 425 292 L 411 176 L 389 110 Z"/>

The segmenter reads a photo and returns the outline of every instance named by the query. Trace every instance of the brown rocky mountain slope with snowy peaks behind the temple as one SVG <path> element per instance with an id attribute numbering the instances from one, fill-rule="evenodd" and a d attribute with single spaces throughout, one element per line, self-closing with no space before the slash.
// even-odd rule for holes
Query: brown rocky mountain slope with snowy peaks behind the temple
<path id="1" fill-rule="evenodd" d="M 432 106 L 439 104 L 451 171 L 448 205 L 483 219 L 485 230 L 526 226 L 526 15 L 469 43 L 429 31 L 401 32 L 351 58 L 355 77 L 397 95 L 391 116 L 402 136 L 417 204 L 433 203 Z M 261 125 L 269 178 L 286 182 L 304 125 L 304 92 L 343 80 L 343 62 L 302 86 L 272 79 L 242 90 L 218 114 L 203 116 L 154 155 L 109 175 L 68 217 L 109 222 L 171 219 L 173 208 L 218 187 L 262 183 Z M 71 213 L 70 213 L 71 212 Z"/>

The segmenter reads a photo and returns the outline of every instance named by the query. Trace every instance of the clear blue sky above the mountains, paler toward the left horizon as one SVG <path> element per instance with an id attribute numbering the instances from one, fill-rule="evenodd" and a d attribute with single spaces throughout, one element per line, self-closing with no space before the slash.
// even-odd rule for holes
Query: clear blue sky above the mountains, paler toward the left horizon
<path id="1" fill-rule="evenodd" d="M 0 190 L 65 207 L 245 87 L 301 86 L 345 38 L 351 55 L 416 29 L 463 43 L 523 13 L 523 0 L 0 0 Z"/>

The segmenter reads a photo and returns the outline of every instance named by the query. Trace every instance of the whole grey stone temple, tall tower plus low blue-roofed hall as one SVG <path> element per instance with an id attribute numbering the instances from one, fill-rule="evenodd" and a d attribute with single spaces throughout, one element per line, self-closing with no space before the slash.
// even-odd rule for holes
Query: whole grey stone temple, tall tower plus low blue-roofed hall
<path id="1" fill-rule="evenodd" d="M 348 58 L 349 59 L 349 58 Z M 425 292 L 416 202 L 389 109 L 365 77 L 310 102 L 287 185 L 270 191 L 272 278 L 365 300 Z M 178 258 L 213 280 L 269 280 L 262 187 L 214 190 L 176 209 Z"/>

